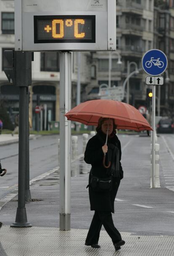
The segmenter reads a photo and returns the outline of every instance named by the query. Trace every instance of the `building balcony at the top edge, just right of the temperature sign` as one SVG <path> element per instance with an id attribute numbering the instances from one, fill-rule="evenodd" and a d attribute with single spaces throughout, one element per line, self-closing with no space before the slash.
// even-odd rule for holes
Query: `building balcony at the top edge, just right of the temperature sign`
<path id="1" fill-rule="evenodd" d="M 132 0 L 126 0 L 126 1 L 118 0 L 118 5 L 121 6 L 121 11 L 123 13 L 133 13 L 133 14 L 142 16 L 142 13 L 143 13 L 142 3 L 135 3 Z"/>

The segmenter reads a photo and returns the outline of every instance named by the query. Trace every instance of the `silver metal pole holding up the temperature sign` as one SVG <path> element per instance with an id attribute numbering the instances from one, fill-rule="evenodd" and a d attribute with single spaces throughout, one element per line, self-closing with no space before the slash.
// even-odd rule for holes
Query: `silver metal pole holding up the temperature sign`
<path id="1" fill-rule="evenodd" d="M 60 230 L 71 229 L 71 53 L 60 53 Z"/>

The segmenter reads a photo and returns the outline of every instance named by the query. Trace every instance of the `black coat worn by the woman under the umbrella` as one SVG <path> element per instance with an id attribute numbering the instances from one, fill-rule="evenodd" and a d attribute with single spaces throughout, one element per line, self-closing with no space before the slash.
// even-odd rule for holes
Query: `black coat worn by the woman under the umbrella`
<path id="1" fill-rule="evenodd" d="M 103 133 L 102 133 L 103 134 Z M 103 139 L 105 139 L 105 135 L 103 134 Z M 90 208 L 91 211 L 111 211 L 114 213 L 114 200 L 116 197 L 117 190 L 119 188 L 120 179 L 123 178 L 123 170 L 121 167 L 121 144 L 116 135 L 114 135 L 113 138 L 108 138 L 108 143 L 112 143 L 116 145 L 119 148 L 119 159 L 116 159 L 119 161 L 119 169 L 120 169 L 120 177 L 115 178 L 112 177 L 112 190 L 110 192 L 95 192 L 92 191 L 91 187 L 89 187 L 89 196 L 90 196 Z M 95 135 L 92 137 L 88 143 L 86 150 L 84 152 L 84 161 L 87 164 L 92 165 L 92 174 L 99 178 L 106 178 L 108 175 L 106 172 L 109 170 L 105 169 L 103 166 L 103 150 L 102 146 L 104 143 L 99 140 L 98 136 Z M 107 153 L 106 153 L 107 158 Z M 112 163 L 111 163 L 112 164 Z M 111 167 L 110 167 L 111 168 Z M 91 171 L 89 175 L 89 184 L 91 179 Z"/>

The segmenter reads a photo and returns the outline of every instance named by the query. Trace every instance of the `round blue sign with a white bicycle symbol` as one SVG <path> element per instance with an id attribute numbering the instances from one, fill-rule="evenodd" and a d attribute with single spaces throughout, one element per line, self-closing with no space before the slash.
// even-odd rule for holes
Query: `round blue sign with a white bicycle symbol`
<path id="1" fill-rule="evenodd" d="M 147 51 L 142 57 L 142 68 L 151 76 L 161 75 L 167 68 L 166 54 L 157 49 Z"/>

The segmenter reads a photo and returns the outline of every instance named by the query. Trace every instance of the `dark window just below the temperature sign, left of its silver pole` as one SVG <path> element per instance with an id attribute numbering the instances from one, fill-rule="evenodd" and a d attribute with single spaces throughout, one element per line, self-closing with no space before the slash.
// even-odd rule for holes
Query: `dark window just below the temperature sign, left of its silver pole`
<path id="1" fill-rule="evenodd" d="M 59 72 L 59 53 L 45 52 L 41 53 L 41 67 L 40 71 Z"/>

